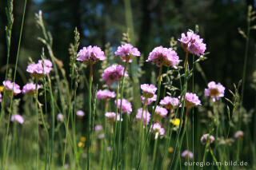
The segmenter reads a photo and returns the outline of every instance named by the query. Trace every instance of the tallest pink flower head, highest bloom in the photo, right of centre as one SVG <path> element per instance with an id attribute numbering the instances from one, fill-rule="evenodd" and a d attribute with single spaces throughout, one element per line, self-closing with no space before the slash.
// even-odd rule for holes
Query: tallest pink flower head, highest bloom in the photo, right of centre
<path id="1" fill-rule="evenodd" d="M 182 48 L 189 53 L 195 54 L 198 57 L 203 55 L 206 50 L 206 44 L 202 41 L 198 34 L 188 31 L 186 34 L 182 33 L 182 38 L 178 39 L 182 43 Z"/>

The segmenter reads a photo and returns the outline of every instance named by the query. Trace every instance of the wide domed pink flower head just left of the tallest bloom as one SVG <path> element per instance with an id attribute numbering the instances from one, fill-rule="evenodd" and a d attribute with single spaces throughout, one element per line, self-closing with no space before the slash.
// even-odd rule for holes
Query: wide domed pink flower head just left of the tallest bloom
<path id="1" fill-rule="evenodd" d="M 169 67 L 172 65 L 174 69 L 176 69 L 179 63 L 179 57 L 173 49 L 167 49 L 162 46 L 158 46 L 155 47 L 152 52 L 150 52 L 150 56 L 146 61 L 151 61 L 158 67 L 162 65 Z"/>

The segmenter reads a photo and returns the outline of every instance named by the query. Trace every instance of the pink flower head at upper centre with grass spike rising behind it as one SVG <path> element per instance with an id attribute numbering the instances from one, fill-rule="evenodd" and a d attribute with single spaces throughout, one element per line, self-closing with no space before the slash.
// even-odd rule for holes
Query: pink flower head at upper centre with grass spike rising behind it
<path id="1" fill-rule="evenodd" d="M 141 55 L 137 48 L 128 43 L 125 45 L 118 46 L 118 50 L 114 52 L 114 54 L 120 56 L 122 58 L 122 61 L 129 62 L 132 61 L 131 57 Z"/>

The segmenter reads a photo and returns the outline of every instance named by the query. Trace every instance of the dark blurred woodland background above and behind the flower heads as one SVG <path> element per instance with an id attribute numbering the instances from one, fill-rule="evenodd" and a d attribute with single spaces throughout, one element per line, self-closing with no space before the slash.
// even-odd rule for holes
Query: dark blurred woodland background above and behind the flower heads
<path id="1" fill-rule="evenodd" d="M 18 36 L 22 19 L 24 0 L 14 0 L 14 28 L 11 39 L 10 63 L 14 64 Z M 202 63 L 208 81 L 221 82 L 228 89 L 242 78 L 242 66 L 246 41 L 238 34 L 238 27 L 246 30 L 247 6 L 256 6 L 255 0 L 28 0 L 26 20 L 22 36 L 22 46 L 18 68 L 26 77 L 28 58 L 37 61 L 42 50 L 41 36 L 34 14 L 43 11 L 46 27 L 54 38 L 54 53 L 62 60 L 69 72 L 70 57 L 68 47 L 74 42 L 74 28 L 78 27 L 82 42 L 80 47 L 98 45 L 104 49 L 107 42 L 115 50 L 122 40 L 122 33 L 130 28 L 132 43 L 148 57 L 148 53 L 158 45 L 170 46 L 170 38 L 176 40 L 182 32 L 199 26 L 199 34 L 206 42 L 208 59 Z M 6 65 L 6 1 L 0 1 L 0 81 L 4 80 Z M 132 16 L 132 17 L 131 17 Z M 255 22 L 252 24 L 254 25 Z M 253 72 L 256 69 L 256 31 L 251 31 L 244 106 L 254 108 L 255 91 L 251 88 Z M 179 44 L 178 44 L 179 46 Z M 184 59 L 185 53 L 178 48 L 178 55 Z M 155 69 L 149 63 L 145 70 Z M 101 75 L 96 75 L 100 77 Z M 150 80 L 150 72 L 141 82 Z M 18 76 L 19 85 L 22 79 Z M 195 83 L 206 87 L 199 73 Z M 228 92 L 226 91 L 228 96 Z"/>

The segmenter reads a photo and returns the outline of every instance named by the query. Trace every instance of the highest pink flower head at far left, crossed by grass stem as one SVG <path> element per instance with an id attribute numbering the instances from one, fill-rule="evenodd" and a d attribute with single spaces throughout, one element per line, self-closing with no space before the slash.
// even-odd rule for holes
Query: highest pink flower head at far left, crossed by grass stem
<path id="1" fill-rule="evenodd" d="M 43 65 L 43 66 L 42 66 Z M 37 64 L 30 64 L 27 66 L 26 71 L 31 73 L 31 76 L 40 78 L 43 75 L 47 75 L 52 70 L 52 63 L 50 60 L 39 60 Z"/>

